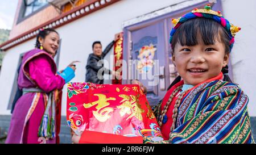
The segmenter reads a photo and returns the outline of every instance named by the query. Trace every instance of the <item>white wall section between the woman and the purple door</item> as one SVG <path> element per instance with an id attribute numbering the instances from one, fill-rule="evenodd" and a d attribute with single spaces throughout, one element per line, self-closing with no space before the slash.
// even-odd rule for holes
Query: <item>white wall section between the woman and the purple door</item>
<path id="1" fill-rule="evenodd" d="M 64 68 L 72 60 L 81 61 L 77 65 L 76 77 L 72 81 L 84 82 L 85 63 L 89 53 L 92 53 L 93 41 L 100 40 L 105 48 L 114 39 L 115 33 L 122 32 L 122 23 L 126 20 L 162 9 L 177 2 L 181 1 L 123 0 L 105 9 L 93 12 L 67 26 L 57 28 L 63 39 L 61 43 L 60 67 Z M 113 54 L 113 51 L 111 53 Z M 110 55 L 107 55 L 105 59 L 110 62 Z M 108 66 L 106 67 L 108 68 Z M 110 69 L 112 69 L 112 66 L 110 66 Z M 63 89 L 63 93 L 62 114 L 65 115 L 66 86 Z"/>

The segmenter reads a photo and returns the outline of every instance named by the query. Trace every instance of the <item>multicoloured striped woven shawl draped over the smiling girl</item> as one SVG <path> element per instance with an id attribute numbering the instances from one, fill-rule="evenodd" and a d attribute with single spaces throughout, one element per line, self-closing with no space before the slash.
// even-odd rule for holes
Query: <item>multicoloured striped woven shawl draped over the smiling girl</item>
<path id="1" fill-rule="evenodd" d="M 176 128 L 164 143 L 254 143 L 248 100 L 234 83 L 201 83 L 182 99 Z M 156 118 L 160 104 L 154 110 Z M 144 143 L 151 141 L 145 137 Z"/>

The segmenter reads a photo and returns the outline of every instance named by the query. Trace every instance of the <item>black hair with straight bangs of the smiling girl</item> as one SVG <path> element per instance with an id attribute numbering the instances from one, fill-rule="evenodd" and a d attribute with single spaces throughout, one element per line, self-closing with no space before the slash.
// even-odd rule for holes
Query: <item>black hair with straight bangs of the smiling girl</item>
<path id="1" fill-rule="evenodd" d="M 230 36 L 221 24 L 212 19 L 195 18 L 184 22 L 177 28 L 171 41 L 172 55 L 174 55 L 174 48 L 177 43 L 181 46 L 195 46 L 199 44 L 200 39 L 203 40 L 205 45 L 213 45 L 216 41 L 219 41 L 225 46 L 225 54 L 230 52 Z M 224 74 L 224 81 L 232 82 L 228 76 L 228 65 L 222 68 L 221 72 Z M 180 79 L 180 76 L 178 76 L 168 89 L 179 82 Z"/>

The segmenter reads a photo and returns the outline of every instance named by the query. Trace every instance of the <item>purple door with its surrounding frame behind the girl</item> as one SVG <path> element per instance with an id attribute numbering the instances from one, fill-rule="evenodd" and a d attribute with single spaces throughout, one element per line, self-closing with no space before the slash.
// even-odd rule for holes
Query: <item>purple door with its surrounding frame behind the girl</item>
<path id="1" fill-rule="evenodd" d="M 207 4 L 205 1 L 124 28 L 126 51 L 123 52 L 123 57 L 136 62 L 127 65 L 128 80 L 123 80 L 123 83 L 130 83 L 130 79 L 139 79 L 147 87 L 147 99 L 151 106 L 164 97 L 168 86 L 178 76 L 172 64 L 171 47 L 168 43 L 171 19 L 179 18 L 192 9 L 203 8 Z M 222 11 L 221 2 L 213 3 L 212 8 Z M 229 75 L 232 78 L 232 73 L 229 72 Z"/>

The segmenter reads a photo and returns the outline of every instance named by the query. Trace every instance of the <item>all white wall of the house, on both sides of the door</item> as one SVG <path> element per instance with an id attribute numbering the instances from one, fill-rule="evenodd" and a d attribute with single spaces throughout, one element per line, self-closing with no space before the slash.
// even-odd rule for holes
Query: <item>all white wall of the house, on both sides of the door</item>
<path id="1" fill-rule="evenodd" d="M 75 20 L 63 27 L 57 28 L 62 39 L 59 69 L 64 69 L 71 61 L 79 60 L 76 77 L 71 82 L 84 82 L 85 65 L 89 53 L 92 53 L 92 43 L 100 40 L 103 47 L 114 39 L 114 34 L 122 31 L 122 23 L 149 12 L 162 9 L 182 0 L 123 0 L 104 9 L 93 12 L 83 18 Z M 225 18 L 230 22 L 242 27 L 236 36 L 236 44 L 231 53 L 233 66 L 233 78 L 249 96 L 250 116 L 256 116 L 256 64 L 254 41 L 256 41 L 256 1 L 247 0 L 222 0 Z M 237 10 L 237 11 L 236 11 Z M 0 74 L 0 114 L 10 114 L 6 111 L 9 103 L 11 87 L 13 85 L 15 70 L 19 54 L 30 50 L 34 46 L 34 40 L 27 41 L 7 51 L 3 60 Z M 113 53 L 111 51 L 110 53 Z M 110 62 L 110 55 L 106 56 Z M 113 60 L 111 60 L 113 61 Z M 106 66 L 108 67 L 108 66 Z M 112 69 L 112 66 L 109 67 Z M 106 76 L 105 76 L 106 77 Z M 62 115 L 66 111 L 67 85 L 63 89 Z"/>

